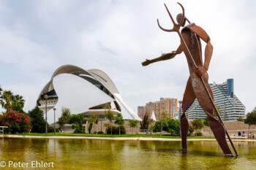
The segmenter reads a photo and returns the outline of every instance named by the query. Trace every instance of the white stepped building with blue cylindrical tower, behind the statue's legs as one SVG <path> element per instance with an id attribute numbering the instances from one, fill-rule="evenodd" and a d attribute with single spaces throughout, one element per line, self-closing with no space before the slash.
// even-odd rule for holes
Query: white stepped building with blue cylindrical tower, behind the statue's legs
<path id="1" fill-rule="evenodd" d="M 238 117 L 245 117 L 246 108 L 244 104 L 234 94 L 234 80 L 228 79 L 227 82 L 222 84 L 210 84 L 211 90 L 214 93 L 214 102 L 219 109 L 222 120 L 237 120 Z M 194 103 L 187 109 L 186 115 L 189 120 L 198 118 L 204 119 L 206 113 L 195 99 Z"/>

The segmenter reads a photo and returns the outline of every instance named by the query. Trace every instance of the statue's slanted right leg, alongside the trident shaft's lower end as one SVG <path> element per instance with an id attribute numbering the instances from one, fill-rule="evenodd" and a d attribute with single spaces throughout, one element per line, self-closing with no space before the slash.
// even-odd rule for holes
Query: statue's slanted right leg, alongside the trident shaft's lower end
<path id="1" fill-rule="evenodd" d="M 220 123 L 218 120 L 216 120 L 213 115 L 213 106 L 211 104 L 210 98 L 208 98 L 206 90 L 203 88 L 203 84 L 201 81 L 197 81 L 199 77 L 196 75 L 192 76 L 192 85 L 194 86 L 195 95 L 197 96 L 197 100 L 200 104 L 200 106 L 203 108 L 203 110 L 206 112 L 206 115 L 208 115 L 209 125 L 211 128 L 211 131 L 213 131 L 214 136 L 219 143 L 219 146 L 222 148 L 222 151 L 225 153 L 225 155 L 230 156 L 233 155 L 233 153 L 230 150 L 230 147 L 227 144 L 226 140 L 226 134 L 225 134 L 225 128 L 223 127 L 222 123 Z M 203 80 L 206 82 L 206 87 L 208 88 L 209 93 L 211 94 L 211 98 L 214 98 L 214 94 L 212 93 L 210 85 L 208 85 L 208 74 L 203 74 Z M 195 85 L 197 87 L 195 88 Z M 199 90 L 200 89 L 200 90 Z"/>

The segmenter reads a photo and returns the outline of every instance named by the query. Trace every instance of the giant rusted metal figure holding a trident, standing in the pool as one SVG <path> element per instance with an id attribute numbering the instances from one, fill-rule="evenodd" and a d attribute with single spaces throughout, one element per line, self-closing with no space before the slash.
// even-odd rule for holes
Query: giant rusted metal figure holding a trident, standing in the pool
<path id="1" fill-rule="evenodd" d="M 178 3 L 179 4 L 179 3 Z M 197 98 L 200 106 L 206 112 L 208 116 L 209 125 L 211 130 L 214 133 L 219 146 L 222 148 L 222 151 L 225 153 L 226 156 L 233 156 L 233 152 L 231 152 L 230 147 L 227 144 L 225 134 L 227 134 L 228 139 L 230 140 L 230 144 L 233 147 L 233 150 L 236 152 L 236 148 L 233 145 L 232 140 L 230 139 L 229 134 L 225 128 L 225 125 L 222 122 L 222 118 L 219 115 L 219 112 L 214 104 L 214 95 L 211 91 L 210 85 L 208 85 L 208 67 L 211 61 L 211 55 L 213 53 L 213 46 L 211 45 L 211 39 L 206 34 L 206 31 L 199 26 L 196 26 L 195 23 L 190 23 L 190 21 L 185 17 L 184 14 L 184 7 L 179 4 L 182 8 L 183 13 L 177 15 L 177 22 L 173 20 L 172 15 L 170 15 L 169 10 L 167 9 L 166 5 L 165 8 L 167 9 L 168 14 L 170 15 L 170 19 L 173 22 L 173 29 L 165 29 L 159 25 L 159 20 L 157 20 L 159 28 L 163 31 L 172 32 L 176 31 L 178 36 L 181 39 L 181 45 L 179 45 L 176 51 L 171 53 L 163 54 L 159 58 L 154 58 L 152 60 L 146 60 L 142 63 L 143 66 L 147 66 L 150 63 L 154 63 L 157 61 L 165 61 L 171 58 L 174 58 L 177 54 L 184 52 L 187 58 L 187 63 L 189 65 L 189 73 L 190 77 L 187 81 L 187 87 L 184 92 L 184 97 L 182 101 L 182 110 L 183 114 L 181 115 L 181 139 L 182 139 L 182 149 L 187 150 L 187 131 L 189 129 L 189 122 L 185 115 L 185 112 L 191 104 Z M 185 26 L 186 21 L 189 23 Z M 181 32 L 179 29 L 182 27 Z M 202 58 L 202 47 L 200 43 L 200 39 L 206 42 L 206 49 L 205 49 L 205 60 L 203 62 Z M 214 109 L 217 112 L 220 122 L 214 118 Z M 238 152 L 236 152 L 238 155 Z"/>

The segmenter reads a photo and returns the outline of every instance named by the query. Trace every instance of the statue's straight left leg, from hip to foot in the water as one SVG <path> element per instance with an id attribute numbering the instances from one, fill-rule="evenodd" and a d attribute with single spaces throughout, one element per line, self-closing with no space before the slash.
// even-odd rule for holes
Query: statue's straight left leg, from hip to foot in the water
<path id="1" fill-rule="evenodd" d="M 187 80 L 187 87 L 184 92 L 184 97 L 182 101 L 182 111 L 181 115 L 181 140 L 182 140 L 182 150 L 187 150 L 187 131 L 189 131 L 189 122 L 187 121 L 187 117 L 185 112 L 191 104 L 195 101 L 195 93 L 192 87 L 191 78 Z"/>

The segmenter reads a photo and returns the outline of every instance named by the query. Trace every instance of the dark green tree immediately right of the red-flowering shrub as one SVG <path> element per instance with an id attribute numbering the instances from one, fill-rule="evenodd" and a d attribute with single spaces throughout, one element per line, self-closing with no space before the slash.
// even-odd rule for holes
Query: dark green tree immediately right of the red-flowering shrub
<path id="1" fill-rule="evenodd" d="M 34 107 L 34 109 L 29 111 L 28 115 L 31 118 L 31 125 L 32 125 L 31 132 L 44 133 L 45 119 L 44 119 L 42 110 L 39 109 L 39 107 Z"/>

